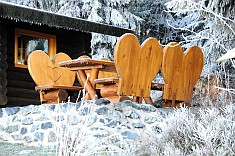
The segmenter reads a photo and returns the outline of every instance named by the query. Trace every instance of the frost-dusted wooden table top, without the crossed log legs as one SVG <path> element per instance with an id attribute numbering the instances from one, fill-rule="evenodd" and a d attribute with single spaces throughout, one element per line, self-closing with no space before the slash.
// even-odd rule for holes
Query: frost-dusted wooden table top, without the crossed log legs
<path id="1" fill-rule="evenodd" d="M 60 62 L 61 67 L 70 68 L 70 70 L 89 70 L 98 68 L 104 71 L 116 71 L 115 64 L 112 61 L 94 60 L 90 58 L 79 58 L 69 61 Z"/>

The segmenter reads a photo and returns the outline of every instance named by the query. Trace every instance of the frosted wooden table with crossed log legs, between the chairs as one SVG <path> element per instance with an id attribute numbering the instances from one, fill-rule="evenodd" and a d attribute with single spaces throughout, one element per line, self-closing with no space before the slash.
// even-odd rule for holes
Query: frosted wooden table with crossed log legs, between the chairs
<path id="1" fill-rule="evenodd" d="M 77 71 L 85 90 L 91 99 L 98 99 L 94 80 L 98 78 L 99 71 L 116 72 L 114 62 L 106 60 L 94 60 L 90 58 L 79 58 L 69 61 L 60 62 L 61 67 L 70 68 L 71 71 Z M 91 70 L 90 77 L 85 70 Z"/>

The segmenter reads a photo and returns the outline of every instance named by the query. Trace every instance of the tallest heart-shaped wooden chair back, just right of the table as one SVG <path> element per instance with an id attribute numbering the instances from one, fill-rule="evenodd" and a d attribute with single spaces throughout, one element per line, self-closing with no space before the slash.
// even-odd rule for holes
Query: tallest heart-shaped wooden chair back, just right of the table
<path id="1" fill-rule="evenodd" d="M 150 97 L 151 82 L 162 63 L 162 47 L 149 38 L 140 46 L 137 37 L 122 35 L 114 49 L 114 62 L 120 76 L 118 94 Z"/>

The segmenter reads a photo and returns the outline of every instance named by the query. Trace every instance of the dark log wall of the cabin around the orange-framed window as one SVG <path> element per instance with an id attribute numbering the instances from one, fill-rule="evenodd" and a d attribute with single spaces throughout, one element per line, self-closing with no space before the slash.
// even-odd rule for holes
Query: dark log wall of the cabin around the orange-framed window
<path id="1" fill-rule="evenodd" d="M 56 35 L 57 39 L 57 52 L 67 53 L 71 58 L 75 59 L 80 55 L 89 55 L 90 54 L 90 41 L 91 34 L 64 30 L 58 28 L 47 27 L 45 25 L 33 25 L 23 22 L 15 22 L 6 19 L 1 19 L 2 23 L 6 25 L 5 32 L 7 32 L 5 49 L 7 49 L 7 63 L 5 60 L 5 66 L 8 65 L 8 69 L 5 74 L 2 72 L 1 67 L 1 76 L 0 78 L 7 78 L 7 86 L 2 90 L 3 86 L 0 86 L 0 97 L 5 97 L 8 99 L 6 106 L 24 106 L 30 104 L 40 104 L 39 93 L 34 90 L 35 83 L 29 75 L 28 69 L 14 67 L 14 37 L 15 37 L 15 28 L 21 28 L 31 31 L 39 31 L 42 33 Z M 1 29 L 0 29 L 1 30 Z M 0 39 L 2 40 L 2 39 Z M 3 54 L 1 52 L 1 54 Z M 1 56 L 2 61 L 2 56 Z M 3 60 L 4 62 L 4 60 Z M 2 66 L 2 65 L 1 65 Z M 6 76 L 7 74 L 7 76 Z M 6 81 L 6 80 L 5 80 Z M 1 80 L 2 82 L 2 80 Z M 6 93 L 7 90 L 7 93 Z M 1 101 L 1 100 L 0 100 Z"/>

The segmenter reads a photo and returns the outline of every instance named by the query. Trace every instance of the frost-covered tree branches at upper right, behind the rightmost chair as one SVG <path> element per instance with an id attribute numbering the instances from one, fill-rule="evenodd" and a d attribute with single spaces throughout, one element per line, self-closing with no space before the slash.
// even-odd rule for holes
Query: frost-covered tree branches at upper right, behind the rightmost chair
<path id="1" fill-rule="evenodd" d="M 175 20 L 169 26 L 182 31 L 184 46 L 191 44 L 203 48 L 205 55 L 204 75 L 221 74 L 224 64 L 216 63 L 221 54 L 233 48 L 234 1 L 232 0 L 172 0 L 166 3 Z"/>

